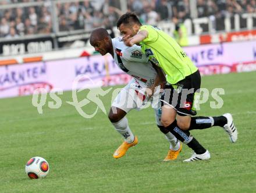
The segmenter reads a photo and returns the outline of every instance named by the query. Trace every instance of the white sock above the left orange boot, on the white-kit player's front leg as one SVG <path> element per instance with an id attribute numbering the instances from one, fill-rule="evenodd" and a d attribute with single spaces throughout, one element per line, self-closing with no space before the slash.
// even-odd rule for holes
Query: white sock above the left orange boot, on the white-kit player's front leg
<path id="1" fill-rule="evenodd" d="M 112 125 L 115 127 L 116 131 L 122 135 L 123 139 L 125 139 L 127 143 L 133 143 L 134 135 L 129 128 L 126 117 L 122 118 L 118 122 L 112 123 Z"/>

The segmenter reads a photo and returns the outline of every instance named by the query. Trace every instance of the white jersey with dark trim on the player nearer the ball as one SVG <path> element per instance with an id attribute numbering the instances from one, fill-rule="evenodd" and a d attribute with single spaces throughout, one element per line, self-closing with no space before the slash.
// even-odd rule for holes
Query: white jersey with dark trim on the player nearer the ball
<path id="1" fill-rule="evenodd" d="M 115 63 L 121 70 L 134 77 L 141 86 L 145 84 L 148 87 L 154 83 L 157 72 L 140 46 L 126 46 L 122 38 L 113 38 L 112 45 Z"/>

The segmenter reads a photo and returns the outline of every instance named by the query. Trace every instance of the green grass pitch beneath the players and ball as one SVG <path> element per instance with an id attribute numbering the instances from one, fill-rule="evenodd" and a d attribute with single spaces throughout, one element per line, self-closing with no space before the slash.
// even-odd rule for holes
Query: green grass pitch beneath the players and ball
<path id="1" fill-rule="evenodd" d="M 210 97 L 198 115 L 232 113 L 239 139 L 230 143 L 219 127 L 191 131 L 211 153 L 209 161 L 192 163 L 182 162 L 191 155 L 186 145 L 176 161 L 162 161 L 169 145 L 151 108 L 127 116 L 139 144 L 116 160 L 112 154 L 122 139 L 108 117 L 101 110 L 92 119 L 81 117 L 65 102 L 72 101 L 71 92 L 60 96 L 61 108 L 45 105 L 43 114 L 31 96 L 1 99 L 0 192 L 256 192 L 255 83 L 256 72 L 202 78 L 201 87 L 210 92 L 225 89 L 224 105 L 210 108 Z M 111 96 L 101 97 L 106 111 Z M 94 108 L 88 104 L 84 110 Z M 49 162 L 45 179 L 30 180 L 24 173 L 33 156 Z"/>

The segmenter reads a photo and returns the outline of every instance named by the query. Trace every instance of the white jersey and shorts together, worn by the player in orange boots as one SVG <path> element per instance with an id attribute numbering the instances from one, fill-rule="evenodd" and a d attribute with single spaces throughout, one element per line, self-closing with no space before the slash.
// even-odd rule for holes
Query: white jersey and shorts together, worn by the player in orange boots
<path id="1" fill-rule="evenodd" d="M 152 97 L 148 100 L 145 96 L 145 88 L 154 84 L 157 71 L 152 67 L 148 57 L 141 52 L 140 46 L 126 46 L 122 38 L 113 38 L 112 45 L 115 63 L 133 79 L 118 93 L 111 106 L 128 113 L 134 108 L 140 110 L 151 104 L 155 110 L 157 125 L 162 125 L 161 101 L 154 102 Z"/>

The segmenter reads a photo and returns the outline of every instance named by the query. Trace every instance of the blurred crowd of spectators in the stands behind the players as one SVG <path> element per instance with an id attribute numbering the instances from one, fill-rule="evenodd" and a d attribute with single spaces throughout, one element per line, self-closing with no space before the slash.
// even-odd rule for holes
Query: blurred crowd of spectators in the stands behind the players
<path id="1" fill-rule="evenodd" d="M 40 5 L 36 4 L 40 2 Z M 120 2 L 122 1 L 1 0 L 0 37 L 15 38 L 23 35 L 115 27 L 116 20 L 124 13 Z M 136 12 L 142 23 L 153 26 L 162 20 L 175 22 L 191 18 L 189 0 L 127 0 L 123 2 L 127 3 L 126 10 Z M 197 8 L 195 17 L 211 17 L 216 20 L 216 30 L 223 29 L 224 17 L 256 13 L 256 0 L 195 0 L 195 2 Z M 12 8 L 8 5 L 12 5 Z M 56 20 L 56 28 L 53 27 L 53 20 Z M 256 22 L 255 18 L 254 22 Z"/>

